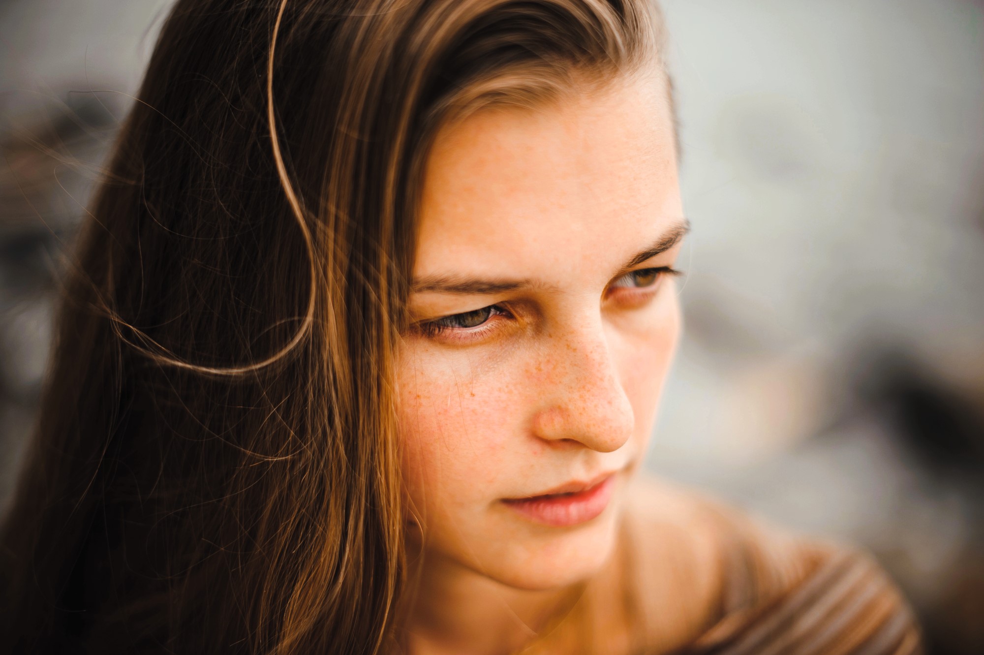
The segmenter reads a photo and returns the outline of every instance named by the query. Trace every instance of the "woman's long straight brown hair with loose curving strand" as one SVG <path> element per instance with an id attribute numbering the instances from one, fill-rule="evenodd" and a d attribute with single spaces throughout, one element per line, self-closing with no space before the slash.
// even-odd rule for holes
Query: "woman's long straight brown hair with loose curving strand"
<path id="1" fill-rule="evenodd" d="M 180 0 L 66 268 L 0 648 L 379 651 L 428 145 L 658 61 L 654 11 Z"/>

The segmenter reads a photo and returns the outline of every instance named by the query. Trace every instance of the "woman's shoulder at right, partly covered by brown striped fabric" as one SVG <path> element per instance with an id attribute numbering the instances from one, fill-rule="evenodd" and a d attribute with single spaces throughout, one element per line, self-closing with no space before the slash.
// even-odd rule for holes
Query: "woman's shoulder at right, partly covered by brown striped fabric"
<path id="1" fill-rule="evenodd" d="M 908 604 L 863 550 L 671 483 L 634 491 L 628 541 L 650 652 L 922 652 Z"/>

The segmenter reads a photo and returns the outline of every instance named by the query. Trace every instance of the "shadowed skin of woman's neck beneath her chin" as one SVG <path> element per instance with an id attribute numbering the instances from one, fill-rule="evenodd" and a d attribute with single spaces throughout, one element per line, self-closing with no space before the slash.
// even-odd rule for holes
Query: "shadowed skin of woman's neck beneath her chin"
<path id="1" fill-rule="evenodd" d="M 573 588 L 516 589 L 430 553 L 418 566 L 406 623 L 412 655 L 518 651 L 578 595 Z"/>

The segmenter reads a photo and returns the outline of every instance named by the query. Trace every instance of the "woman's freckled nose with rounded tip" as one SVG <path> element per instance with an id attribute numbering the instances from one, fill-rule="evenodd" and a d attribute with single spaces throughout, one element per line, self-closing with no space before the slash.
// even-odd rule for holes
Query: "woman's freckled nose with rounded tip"
<path id="1" fill-rule="evenodd" d="M 625 445 L 635 430 L 635 412 L 622 386 L 609 339 L 600 321 L 558 336 L 542 364 L 543 401 L 533 432 L 549 442 L 577 442 L 610 452 Z"/>

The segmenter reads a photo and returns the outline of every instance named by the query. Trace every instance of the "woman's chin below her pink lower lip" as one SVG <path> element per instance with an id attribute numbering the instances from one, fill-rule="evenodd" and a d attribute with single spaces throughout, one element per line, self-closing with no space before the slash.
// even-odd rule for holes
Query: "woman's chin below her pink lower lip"
<path id="1" fill-rule="evenodd" d="M 613 504 L 617 505 L 617 504 Z M 531 526 L 514 532 L 508 543 L 478 554 L 477 569 L 511 587 L 545 591 L 583 582 L 611 559 L 618 536 L 618 511 L 609 506 L 600 516 L 571 528 Z M 522 520 L 522 519 L 517 519 Z M 528 534 L 523 534 L 527 532 Z"/>

